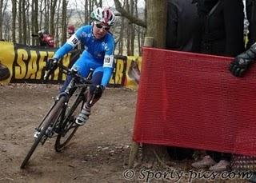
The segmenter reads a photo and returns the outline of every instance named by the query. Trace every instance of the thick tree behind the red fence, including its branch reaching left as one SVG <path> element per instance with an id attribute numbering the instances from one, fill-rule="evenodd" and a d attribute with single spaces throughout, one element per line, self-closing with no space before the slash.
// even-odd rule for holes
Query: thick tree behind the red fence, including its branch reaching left
<path id="1" fill-rule="evenodd" d="M 130 22 L 139 26 L 146 27 L 147 40 L 153 40 L 152 44 L 147 46 L 154 46 L 164 48 L 166 44 L 166 0 L 147 0 L 146 1 L 146 22 L 140 18 L 130 14 L 127 10 L 124 10 L 121 3 L 118 0 L 114 0 L 117 10 L 130 20 Z M 146 163 L 153 165 L 154 161 L 168 160 L 166 153 L 166 147 L 160 145 L 143 145 L 142 156 Z M 139 145 L 134 143 L 130 151 L 129 166 L 133 167 L 134 157 L 137 156 Z"/>

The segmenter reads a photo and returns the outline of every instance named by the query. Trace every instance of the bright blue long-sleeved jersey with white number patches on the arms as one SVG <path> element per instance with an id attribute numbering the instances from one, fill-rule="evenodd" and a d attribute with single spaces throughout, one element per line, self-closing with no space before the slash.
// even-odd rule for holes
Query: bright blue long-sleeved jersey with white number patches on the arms
<path id="1" fill-rule="evenodd" d="M 86 75 L 86 71 L 92 67 L 97 69 L 102 67 L 102 85 L 110 81 L 114 63 L 114 37 L 109 32 L 103 38 L 96 39 L 93 34 L 93 26 L 82 26 L 73 34 L 67 42 L 54 54 L 54 58 L 62 58 L 65 54 L 73 50 L 79 42 L 85 46 L 85 50 L 78 61 L 74 63 L 79 67 L 80 73 Z M 88 62 L 86 65 L 82 62 Z M 78 70 L 79 70 L 78 69 Z M 98 68 L 100 69 L 100 68 Z"/>

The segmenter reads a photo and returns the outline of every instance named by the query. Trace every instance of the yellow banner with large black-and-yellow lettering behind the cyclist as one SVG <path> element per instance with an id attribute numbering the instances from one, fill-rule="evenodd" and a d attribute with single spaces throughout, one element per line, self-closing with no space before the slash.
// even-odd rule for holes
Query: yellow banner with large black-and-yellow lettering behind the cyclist
<path id="1" fill-rule="evenodd" d="M 38 46 L 25 46 L 12 42 L 0 42 L 0 83 L 42 83 L 46 61 L 54 55 L 56 49 Z M 72 66 L 81 54 L 81 50 L 66 54 L 60 62 L 63 66 Z M 126 86 L 137 89 L 137 82 L 129 77 L 131 63 L 138 63 L 141 58 L 114 55 L 114 72 L 110 79 L 110 86 Z M 57 69 L 51 78 L 51 83 L 66 80 L 66 75 Z"/>

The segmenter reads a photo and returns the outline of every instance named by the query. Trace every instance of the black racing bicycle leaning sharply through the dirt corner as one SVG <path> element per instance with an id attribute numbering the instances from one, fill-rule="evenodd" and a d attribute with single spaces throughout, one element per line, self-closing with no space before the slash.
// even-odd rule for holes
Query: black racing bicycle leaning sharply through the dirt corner
<path id="1" fill-rule="evenodd" d="M 90 82 L 93 70 L 90 69 L 88 76 L 82 78 L 76 68 L 67 69 L 59 63 L 58 66 L 62 68 L 64 74 L 71 75 L 72 79 L 70 84 L 66 87 L 66 90 L 62 93 L 58 93 L 54 98 L 54 104 L 35 129 L 34 144 L 22 161 L 21 169 L 26 167 L 30 157 L 40 142 L 44 145 L 48 138 L 57 137 L 54 149 L 56 152 L 61 152 L 79 127 L 79 125 L 75 124 L 75 119 L 86 102 L 86 92 L 89 92 L 89 86 L 93 86 Z M 44 80 L 48 80 L 52 72 L 51 70 L 46 71 Z M 94 95 L 95 94 L 90 98 L 90 104 L 94 99 Z"/>

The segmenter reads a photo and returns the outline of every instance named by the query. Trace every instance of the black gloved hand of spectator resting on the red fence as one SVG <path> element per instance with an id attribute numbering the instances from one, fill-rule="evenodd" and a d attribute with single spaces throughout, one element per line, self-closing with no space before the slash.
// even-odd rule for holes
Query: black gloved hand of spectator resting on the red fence
<path id="1" fill-rule="evenodd" d="M 250 46 L 249 50 L 239 54 L 234 58 L 233 62 L 230 62 L 230 72 L 236 77 L 242 77 L 246 73 L 246 70 L 254 63 L 256 58 L 256 43 Z"/>

